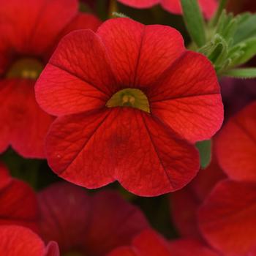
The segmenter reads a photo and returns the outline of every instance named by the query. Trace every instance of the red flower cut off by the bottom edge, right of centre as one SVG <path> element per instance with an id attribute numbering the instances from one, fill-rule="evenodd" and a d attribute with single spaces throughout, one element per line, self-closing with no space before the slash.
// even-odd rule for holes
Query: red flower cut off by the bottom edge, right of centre
<path id="1" fill-rule="evenodd" d="M 131 246 L 122 246 L 108 256 L 218 256 L 199 241 L 181 239 L 167 241 L 154 230 L 144 230 L 136 236 Z"/>

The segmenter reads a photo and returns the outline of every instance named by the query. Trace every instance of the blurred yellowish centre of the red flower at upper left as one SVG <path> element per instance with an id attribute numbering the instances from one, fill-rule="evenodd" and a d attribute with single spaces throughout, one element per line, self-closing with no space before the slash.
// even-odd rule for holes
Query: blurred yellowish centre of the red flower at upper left
<path id="1" fill-rule="evenodd" d="M 7 72 L 7 78 L 37 79 L 44 68 L 41 61 L 37 59 L 18 59 Z"/>

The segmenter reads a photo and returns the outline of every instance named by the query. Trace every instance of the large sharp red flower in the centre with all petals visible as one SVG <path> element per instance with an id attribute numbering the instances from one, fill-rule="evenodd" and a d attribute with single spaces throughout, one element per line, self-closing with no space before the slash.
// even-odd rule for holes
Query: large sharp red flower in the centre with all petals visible
<path id="1" fill-rule="evenodd" d="M 46 153 L 59 176 L 87 188 L 118 180 L 138 195 L 184 187 L 199 169 L 192 143 L 223 118 L 208 59 L 175 29 L 128 18 L 61 40 L 36 94 L 58 116 Z"/>

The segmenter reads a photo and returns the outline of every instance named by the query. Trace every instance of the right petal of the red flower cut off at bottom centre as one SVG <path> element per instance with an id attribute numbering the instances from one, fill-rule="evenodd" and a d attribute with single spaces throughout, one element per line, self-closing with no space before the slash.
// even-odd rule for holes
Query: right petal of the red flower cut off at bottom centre
<path id="1" fill-rule="evenodd" d="M 214 252 L 205 244 L 194 239 L 179 239 L 170 241 L 170 252 L 173 256 L 218 256 L 219 253 Z M 221 256 L 221 255 L 219 255 Z"/>

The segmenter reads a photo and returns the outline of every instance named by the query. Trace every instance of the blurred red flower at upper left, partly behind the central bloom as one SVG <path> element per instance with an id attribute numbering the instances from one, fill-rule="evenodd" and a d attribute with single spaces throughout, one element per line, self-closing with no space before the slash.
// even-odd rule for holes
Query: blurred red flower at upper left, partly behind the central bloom
<path id="1" fill-rule="evenodd" d="M 97 29 L 99 20 L 78 13 L 77 0 L 0 0 L 0 152 L 45 157 L 53 121 L 37 105 L 34 83 L 64 34 Z"/>

